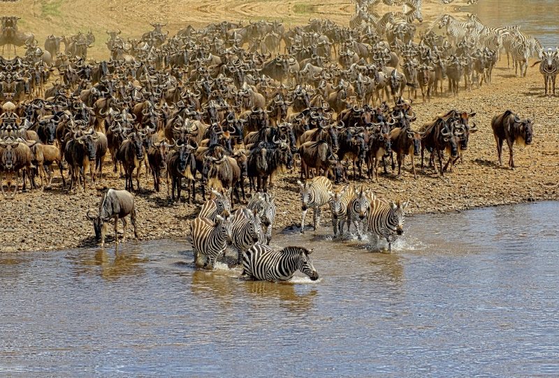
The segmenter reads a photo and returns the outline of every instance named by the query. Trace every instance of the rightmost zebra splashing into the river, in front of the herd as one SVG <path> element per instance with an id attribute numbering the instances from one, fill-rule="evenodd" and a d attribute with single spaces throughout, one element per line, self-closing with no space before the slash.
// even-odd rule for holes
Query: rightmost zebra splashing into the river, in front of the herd
<path id="1" fill-rule="evenodd" d="M 392 243 L 404 233 L 404 211 L 408 203 L 409 201 L 389 202 L 378 198 L 371 202 L 367 217 L 368 227 L 377 238 L 384 236 L 389 243 L 389 251 L 392 250 Z"/>

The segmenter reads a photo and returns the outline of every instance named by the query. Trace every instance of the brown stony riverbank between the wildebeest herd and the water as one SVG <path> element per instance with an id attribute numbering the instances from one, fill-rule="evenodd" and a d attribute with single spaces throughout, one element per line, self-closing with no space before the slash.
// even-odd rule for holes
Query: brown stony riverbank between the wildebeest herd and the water
<path id="1" fill-rule="evenodd" d="M 401 179 L 396 179 L 389 169 L 388 175 L 379 177 L 379 183 L 370 179 L 351 181 L 373 188 L 379 197 L 410 199 L 410 215 L 558 199 L 559 189 L 553 187 L 559 178 L 557 116 L 546 115 L 556 111 L 557 98 L 549 100 L 542 96 L 543 80 L 537 68 L 530 69 L 528 77 L 519 78 L 513 74 L 507 70 L 506 61 L 501 62 L 492 86 L 472 92 L 460 89 L 458 98 L 437 97 L 430 105 L 421 105 L 421 94 L 416 100 L 414 109 L 418 121 L 412 125 L 414 128 L 430 120 L 433 114 L 455 107 L 472 108 L 477 112 L 474 120 L 479 132 L 471 137 L 464 162 L 456 165 L 454 172 L 441 177 L 430 168 L 420 172 L 418 165 L 418 179 L 414 180 L 408 158 Z M 512 109 L 523 117 L 536 114 L 533 143 L 525 149 L 515 147 L 517 167 L 514 170 L 506 165 L 509 154 L 506 146 L 505 165 L 498 165 L 490 124 L 491 118 L 505 109 Z M 18 193 L 15 199 L 1 200 L 4 226 L 0 233 L 0 250 L 60 250 L 95 245 L 92 222 L 85 218 L 85 212 L 98 206 L 102 192 L 99 189 L 124 188 L 124 179 L 112 173 L 110 161 L 106 162 L 105 172 L 101 186 L 85 193 L 66 192 L 56 174 L 53 190 Z M 276 180 L 275 232 L 300 225 L 298 177 L 298 172 L 293 171 Z M 351 179 L 351 174 L 349 177 Z M 183 192 L 183 202 L 177 205 L 171 203 L 166 185 L 162 185 L 159 193 L 152 190 L 151 177 L 146 180 L 143 176 L 141 186 L 142 190 L 136 195 L 141 238 L 185 238 L 189 222 L 196 217 L 202 203 L 199 192 L 195 204 L 184 204 Z M 328 213 L 324 211 L 323 225 L 331 224 Z M 307 223 L 311 220 L 310 216 Z"/>

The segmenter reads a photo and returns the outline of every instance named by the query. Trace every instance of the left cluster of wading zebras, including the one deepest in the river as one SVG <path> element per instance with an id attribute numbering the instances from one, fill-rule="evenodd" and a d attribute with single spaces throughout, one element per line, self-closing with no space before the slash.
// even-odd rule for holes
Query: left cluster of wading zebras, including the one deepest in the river
<path id="1" fill-rule="evenodd" d="M 237 264 L 249 279 L 285 281 L 296 271 L 317 280 L 319 275 L 309 255 L 312 250 L 286 247 L 276 251 L 270 247 L 276 208 L 274 197 L 256 192 L 247 207 L 231 212 L 231 188 L 212 189 L 212 199 L 206 201 L 191 222 L 191 241 L 196 266 L 215 268 L 227 246 L 238 251 Z"/>

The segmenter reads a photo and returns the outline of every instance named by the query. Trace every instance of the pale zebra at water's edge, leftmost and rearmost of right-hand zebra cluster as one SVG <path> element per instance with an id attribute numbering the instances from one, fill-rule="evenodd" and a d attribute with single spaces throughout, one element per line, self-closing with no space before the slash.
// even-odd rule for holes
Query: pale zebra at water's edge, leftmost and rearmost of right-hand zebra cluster
<path id="1" fill-rule="evenodd" d="M 328 204 L 330 195 L 328 192 L 332 191 L 332 182 L 324 176 L 317 176 L 314 179 L 309 179 L 302 182 L 297 180 L 297 185 L 300 188 L 301 195 L 301 234 L 305 234 L 305 217 L 309 208 L 314 210 L 313 221 L 314 231 L 317 231 L 320 223 L 320 206 Z"/>

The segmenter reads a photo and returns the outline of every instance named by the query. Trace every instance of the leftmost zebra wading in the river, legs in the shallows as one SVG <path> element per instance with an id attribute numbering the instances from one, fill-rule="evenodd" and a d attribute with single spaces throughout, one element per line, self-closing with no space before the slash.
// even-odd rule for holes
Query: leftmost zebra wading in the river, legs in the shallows
<path id="1" fill-rule="evenodd" d="M 215 222 L 208 218 L 196 218 L 190 223 L 190 238 L 194 264 L 214 269 L 216 260 L 223 255 L 227 245 L 231 245 L 233 232 L 233 216 L 224 211 L 222 216 L 216 215 Z M 200 261 L 204 257 L 204 261 Z"/>

